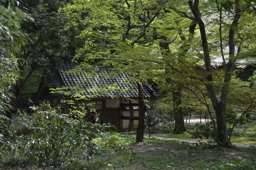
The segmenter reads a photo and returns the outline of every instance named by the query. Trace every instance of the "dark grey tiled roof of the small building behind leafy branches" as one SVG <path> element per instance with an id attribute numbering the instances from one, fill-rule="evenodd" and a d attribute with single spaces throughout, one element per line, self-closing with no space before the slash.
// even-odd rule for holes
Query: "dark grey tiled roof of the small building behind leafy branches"
<path id="1" fill-rule="evenodd" d="M 57 88 L 67 87 L 71 95 L 79 92 L 88 98 L 138 98 L 138 87 L 132 76 L 127 73 L 116 74 L 111 66 L 95 65 L 94 72 L 70 73 L 78 64 L 63 63 L 60 69 L 51 73 Z M 85 75 L 86 74 L 86 75 Z M 156 92 L 145 82 L 142 85 L 144 98 L 157 97 Z"/>

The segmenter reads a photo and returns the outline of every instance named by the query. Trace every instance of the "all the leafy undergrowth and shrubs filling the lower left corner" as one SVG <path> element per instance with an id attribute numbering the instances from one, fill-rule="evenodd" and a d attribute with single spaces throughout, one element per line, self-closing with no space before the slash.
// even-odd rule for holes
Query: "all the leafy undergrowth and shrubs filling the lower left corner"
<path id="1" fill-rule="evenodd" d="M 26 132 L 10 131 L 1 138 L 0 167 L 100 169 L 105 162 L 126 153 L 123 143 L 129 139 L 121 141 L 119 135 L 111 134 L 111 125 L 77 120 L 47 104 L 34 107 L 32 115 L 25 113 L 20 120 Z"/>

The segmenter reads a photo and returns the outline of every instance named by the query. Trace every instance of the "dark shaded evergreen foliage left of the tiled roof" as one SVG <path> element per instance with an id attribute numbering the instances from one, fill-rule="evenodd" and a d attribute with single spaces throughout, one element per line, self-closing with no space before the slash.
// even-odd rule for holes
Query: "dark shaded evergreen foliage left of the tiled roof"
<path id="1" fill-rule="evenodd" d="M 58 8 L 65 1 L 22 1 L 20 9 L 34 20 L 23 21 L 20 30 L 27 34 L 27 43 L 20 52 L 18 68 L 20 79 L 15 88 L 15 102 L 28 102 L 33 99 L 40 81 L 47 71 L 58 65 L 69 55 L 69 20 Z"/>

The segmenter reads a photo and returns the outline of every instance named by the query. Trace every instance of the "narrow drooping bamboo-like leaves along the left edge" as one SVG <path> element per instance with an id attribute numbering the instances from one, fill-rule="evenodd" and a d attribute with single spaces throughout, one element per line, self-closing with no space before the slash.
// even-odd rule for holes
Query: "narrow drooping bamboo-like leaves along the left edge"
<path id="1" fill-rule="evenodd" d="M 19 78 L 18 56 L 25 44 L 25 35 L 20 31 L 20 21 L 30 17 L 18 8 L 0 5 L 0 113 L 10 107 L 12 85 Z"/>

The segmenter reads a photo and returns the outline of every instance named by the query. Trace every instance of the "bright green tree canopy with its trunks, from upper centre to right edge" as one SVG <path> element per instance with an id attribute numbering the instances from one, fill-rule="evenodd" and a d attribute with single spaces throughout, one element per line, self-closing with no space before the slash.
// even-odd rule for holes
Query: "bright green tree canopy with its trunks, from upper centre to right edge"
<path id="1" fill-rule="evenodd" d="M 247 22 L 255 20 L 255 3 L 104 2 L 76 1 L 61 8 L 81 31 L 84 47 L 77 56 L 122 58 L 112 63 L 116 70 L 157 83 L 162 97 L 172 100 L 176 132 L 186 131 L 183 99 L 197 99 L 212 119 L 216 141 L 228 143 L 227 108 L 255 106 L 255 90 L 234 76 L 236 63 L 250 63 L 255 55 L 255 25 Z"/>

